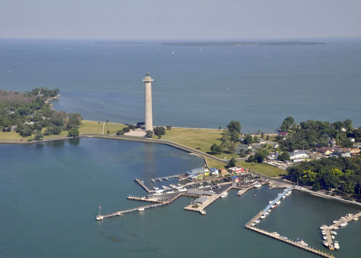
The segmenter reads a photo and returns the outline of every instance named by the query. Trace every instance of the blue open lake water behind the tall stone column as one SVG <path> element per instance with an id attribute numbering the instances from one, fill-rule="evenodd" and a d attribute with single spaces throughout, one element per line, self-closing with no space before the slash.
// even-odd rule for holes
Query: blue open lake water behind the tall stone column
<path id="1" fill-rule="evenodd" d="M 361 40 L 320 46 L 162 46 L 90 40 L 0 39 L 0 89 L 61 89 L 54 108 L 84 119 L 271 133 L 289 115 L 361 125 Z M 159 49 L 158 49 L 159 48 Z M 174 54 L 172 52 L 174 51 Z M 11 73 L 8 73 L 10 72 Z M 229 90 L 227 90 L 229 88 Z"/>

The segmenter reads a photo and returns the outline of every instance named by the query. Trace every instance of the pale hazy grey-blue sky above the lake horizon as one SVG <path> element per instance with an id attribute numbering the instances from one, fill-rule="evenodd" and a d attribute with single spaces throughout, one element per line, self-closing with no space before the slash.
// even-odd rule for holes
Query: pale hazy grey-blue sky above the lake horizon
<path id="1" fill-rule="evenodd" d="M 358 38 L 360 10 L 360 0 L 3 0 L 0 38 Z"/>

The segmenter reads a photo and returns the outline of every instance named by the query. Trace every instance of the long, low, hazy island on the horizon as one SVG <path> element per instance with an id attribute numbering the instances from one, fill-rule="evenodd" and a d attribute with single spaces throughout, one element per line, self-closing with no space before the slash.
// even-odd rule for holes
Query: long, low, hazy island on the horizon
<path id="1" fill-rule="evenodd" d="M 165 46 L 293 46 L 326 45 L 323 42 L 303 41 L 203 41 L 203 42 L 94 42 L 109 44 L 161 44 Z"/>

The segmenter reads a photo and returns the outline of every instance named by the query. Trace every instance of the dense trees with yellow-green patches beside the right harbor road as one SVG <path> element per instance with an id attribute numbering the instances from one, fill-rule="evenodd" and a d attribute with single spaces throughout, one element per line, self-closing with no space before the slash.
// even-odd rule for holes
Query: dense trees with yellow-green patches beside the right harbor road
<path id="1" fill-rule="evenodd" d="M 292 181 L 320 188 L 360 194 L 361 158 L 321 158 L 287 168 Z"/>

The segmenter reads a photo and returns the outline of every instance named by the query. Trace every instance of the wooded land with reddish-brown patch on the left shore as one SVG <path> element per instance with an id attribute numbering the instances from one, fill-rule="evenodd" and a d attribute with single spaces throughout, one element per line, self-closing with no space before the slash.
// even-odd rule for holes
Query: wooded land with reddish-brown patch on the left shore
<path id="1" fill-rule="evenodd" d="M 3 132 L 15 130 L 23 137 L 33 135 L 40 141 L 44 135 L 78 136 L 82 115 L 51 109 L 49 98 L 58 96 L 59 89 L 36 87 L 26 93 L 0 90 L 0 126 Z M 28 139 L 32 141 L 32 139 Z"/>

